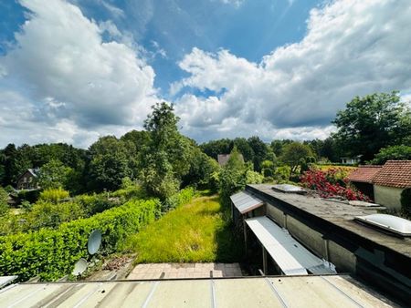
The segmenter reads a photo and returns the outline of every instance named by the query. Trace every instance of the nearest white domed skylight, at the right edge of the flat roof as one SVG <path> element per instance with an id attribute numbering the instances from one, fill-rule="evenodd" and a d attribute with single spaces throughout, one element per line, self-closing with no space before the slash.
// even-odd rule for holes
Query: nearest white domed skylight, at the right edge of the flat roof
<path id="1" fill-rule="evenodd" d="M 381 228 L 385 231 L 394 232 L 401 236 L 411 236 L 411 221 L 407 221 L 401 217 L 387 214 L 372 214 L 357 216 L 355 220 Z"/>

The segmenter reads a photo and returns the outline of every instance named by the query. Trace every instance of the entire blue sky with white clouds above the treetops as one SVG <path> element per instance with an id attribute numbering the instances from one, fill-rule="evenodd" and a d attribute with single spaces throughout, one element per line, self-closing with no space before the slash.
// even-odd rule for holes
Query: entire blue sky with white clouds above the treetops
<path id="1" fill-rule="evenodd" d="M 161 100 L 199 142 L 323 139 L 356 95 L 409 98 L 410 14 L 406 0 L 1 1 L 0 146 L 88 147 Z"/>

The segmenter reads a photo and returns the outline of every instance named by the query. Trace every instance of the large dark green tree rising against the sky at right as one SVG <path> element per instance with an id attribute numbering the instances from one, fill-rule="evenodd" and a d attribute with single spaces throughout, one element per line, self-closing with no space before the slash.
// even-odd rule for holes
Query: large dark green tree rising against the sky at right
<path id="1" fill-rule="evenodd" d="M 355 97 L 333 120 L 340 147 L 350 156 L 373 159 L 380 149 L 399 145 L 411 135 L 411 111 L 398 92 Z"/>

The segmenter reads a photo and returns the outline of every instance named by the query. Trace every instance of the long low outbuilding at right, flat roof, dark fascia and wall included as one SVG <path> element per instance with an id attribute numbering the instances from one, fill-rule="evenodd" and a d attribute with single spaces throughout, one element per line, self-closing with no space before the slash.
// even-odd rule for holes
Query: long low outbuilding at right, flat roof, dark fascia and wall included
<path id="1" fill-rule="evenodd" d="M 269 217 L 338 272 L 358 274 L 397 298 L 411 297 L 411 238 L 354 221 L 377 213 L 377 208 L 281 193 L 266 184 L 248 185 L 246 190 L 267 203 Z"/>

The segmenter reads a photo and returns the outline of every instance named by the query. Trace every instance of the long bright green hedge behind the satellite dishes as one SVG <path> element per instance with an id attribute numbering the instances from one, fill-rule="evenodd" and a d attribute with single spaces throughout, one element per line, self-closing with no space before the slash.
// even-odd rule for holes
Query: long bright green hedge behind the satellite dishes
<path id="1" fill-rule="evenodd" d="M 37 275 L 42 281 L 56 280 L 70 273 L 79 258 L 89 258 L 91 231 L 101 231 L 102 252 L 114 252 L 129 233 L 154 221 L 160 208 L 159 200 L 131 200 L 90 218 L 63 223 L 55 230 L 2 236 L 0 275 L 18 275 L 19 281 Z"/>

